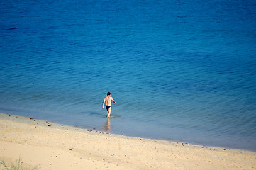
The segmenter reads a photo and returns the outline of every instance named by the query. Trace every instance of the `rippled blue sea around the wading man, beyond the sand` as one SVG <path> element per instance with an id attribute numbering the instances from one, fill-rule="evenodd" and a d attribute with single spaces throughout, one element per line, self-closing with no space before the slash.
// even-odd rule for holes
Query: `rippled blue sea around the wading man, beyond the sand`
<path id="1" fill-rule="evenodd" d="M 256 151 L 255 18 L 256 1 L 1 1 L 0 111 Z"/>

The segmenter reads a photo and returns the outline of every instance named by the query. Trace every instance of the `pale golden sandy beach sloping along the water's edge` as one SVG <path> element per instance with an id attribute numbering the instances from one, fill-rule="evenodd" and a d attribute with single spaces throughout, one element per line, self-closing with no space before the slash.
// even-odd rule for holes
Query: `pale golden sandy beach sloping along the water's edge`
<path id="1" fill-rule="evenodd" d="M 256 169 L 256 152 L 125 137 L 0 113 L 0 160 L 38 169 Z M 0 169 L 3 165 L 0 164 Z"/>

